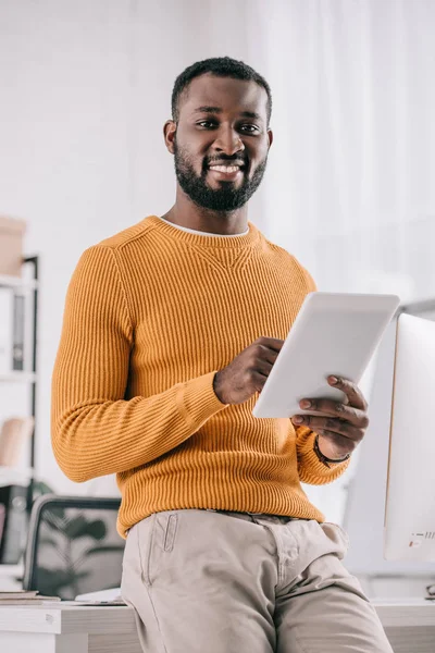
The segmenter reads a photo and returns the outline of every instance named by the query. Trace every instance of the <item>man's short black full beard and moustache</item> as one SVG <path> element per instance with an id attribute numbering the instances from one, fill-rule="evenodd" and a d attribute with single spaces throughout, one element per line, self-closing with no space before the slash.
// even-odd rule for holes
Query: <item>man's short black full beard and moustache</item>
<path id="1" fill-rule="evenodd" d="M 229 158 L 221 159 L 231 161 Z M 239 159 L 240 157 L 238 157 Z M 175 174 L 185 194 L 199 207 L 212 211 L 229 212 L 240 209 L 252 197 L 263 178 L 268 157 L 256 168 L 251 178 L 244 171 L 244 181 L 239 187 L 233 182 L 221 182 L 220 188 L 213 189 L 207 184 L 208 165 L 204 161 L 201 175 L 198 176 L 186 150 L 174 140 Z"/>

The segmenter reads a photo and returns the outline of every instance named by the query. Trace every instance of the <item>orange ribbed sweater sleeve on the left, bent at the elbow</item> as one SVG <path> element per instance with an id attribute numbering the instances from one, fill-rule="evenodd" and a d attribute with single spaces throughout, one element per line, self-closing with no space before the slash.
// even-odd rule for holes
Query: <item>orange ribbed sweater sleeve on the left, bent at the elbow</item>
<path id="1" fill-rule="evenodd" d="M 66 294 L 51 385 L 51 441 L 64 473 L 82 482 L 170 452 L 225 405 L 214 371 L 125 401 L 134 326 L 114 251 L 87 249 Z"/>

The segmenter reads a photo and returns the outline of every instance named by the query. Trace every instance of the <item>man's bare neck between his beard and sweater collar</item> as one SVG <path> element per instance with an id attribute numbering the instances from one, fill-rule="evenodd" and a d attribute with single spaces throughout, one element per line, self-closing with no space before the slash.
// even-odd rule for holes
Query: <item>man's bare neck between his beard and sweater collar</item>
<path id="1" fill-rule="evenodd" d="M 219 235 L 243 234 L 248 229 L 248 209 L 245 205 L 235 211 L 212 211 L 198 207 L 177 194 L 172 209 L 162 215 L 167 222 L 195 231 Z"/>

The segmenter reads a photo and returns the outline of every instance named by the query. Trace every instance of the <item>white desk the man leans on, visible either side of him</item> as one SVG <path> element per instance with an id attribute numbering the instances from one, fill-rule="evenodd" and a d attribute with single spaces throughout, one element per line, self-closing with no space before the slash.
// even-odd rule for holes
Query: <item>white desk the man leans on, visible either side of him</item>
<path id="1" fill-rule="evenodd" d="M 374 605 L 395 653 L 435 653 L 435 603 L 388 600 Z M 0 651 L 141 653 L 132 608 L 66 605 L 0 607 Z"/>

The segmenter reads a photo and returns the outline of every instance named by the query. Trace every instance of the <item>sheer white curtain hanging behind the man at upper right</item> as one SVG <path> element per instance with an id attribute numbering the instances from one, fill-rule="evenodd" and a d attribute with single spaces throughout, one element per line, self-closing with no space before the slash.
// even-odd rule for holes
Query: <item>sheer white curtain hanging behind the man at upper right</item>
<path id="1" fill-rule="evenodd" d="M 435 2 L 256 11 L 275 100 L 261 226 L 320 289 L 435 296 Z"/>

